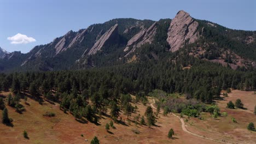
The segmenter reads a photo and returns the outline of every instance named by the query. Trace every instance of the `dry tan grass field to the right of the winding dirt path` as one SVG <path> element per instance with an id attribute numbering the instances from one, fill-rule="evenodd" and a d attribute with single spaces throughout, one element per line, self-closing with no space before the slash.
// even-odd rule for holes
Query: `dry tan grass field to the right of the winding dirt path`
<path id="1" fill-rule="evenodd" d="M 229 100 L 235 103 L 237 98 L 242 100 L 248 110 L 226 108 L 226 103 Z M 209 113 L 202 113 L 204 120 L 190 118 L 187 122 L 187 128 L 193 133 L 212 137 L 212 139 L 225 140 L 231 143 L 256 143 L 256 132 L 247 130 L 249 122 L 256 123 L 256 116 L 253 114 L 255 100 L 254 92 L 232 91 L 229 97 L 217 101 L 220 112 L 227 112 L 228 116 L 214 119 Z M 231 118 L 235 118 L 237 123 L 232 122 Z"/>

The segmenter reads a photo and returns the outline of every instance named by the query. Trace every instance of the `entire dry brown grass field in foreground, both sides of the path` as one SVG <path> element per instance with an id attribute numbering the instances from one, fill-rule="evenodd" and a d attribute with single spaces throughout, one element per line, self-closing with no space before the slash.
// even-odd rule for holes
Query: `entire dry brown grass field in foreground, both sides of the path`
<path id="1" fill-rule="evenodd" d="M 240 92 L 247 93 L 247 92 Z M 231 94 L 227 99 L 236 99 L 236 92 L 234 98 Z M 7 96 L 9 93 L 1 93 Z M 253 97 L 254 95 L 251 95 Z M 251 105 L 253 101 L 246 101 L 241 98 L 246 105 Z M 6 101 L 6 100 L 5 100 Z M 245 110 L 230 110 L 225 108 L 228 100 L 217 101 L 221 112 L 228 112 L 226 117 L 218 117 L 214 119 L 208 113 L 203 113 L 202 117 L 205 120 L 198 118 L 190 118 L 185 127 L 197 135 L 205 136 L 206 138 L 215 140 L 225 140 L 231 143 L 253 143 L 253 137 L 256 133 L 246 129 L 249 122 L 256 123 L 256 117 L 251 112 L 243 112 Z M 25 106 L 26 111 L 22 114 L 15 112 L 13 107 L 7 106 L 9 110 L 9 117 L 14 119 L 14 127 L 8 127 L 0 124 L 0 141 L 1 143 L 90 143 L 90 140 L 97 136 L 101 143 L 219 143 L 206 138 L 195 136 L 187 133 L 182 129 L 182 123 L 179 118 L 173 115 L 163 116 L 160 111 L 156 126 L 151 128 L 146 125 L 136 125 L 131 122 L 129 125 L 127 116 L 121 114 L 120 117 L 125 119 L 126 125 L 114 123 L 116 129 L 110 128 L 110 133 L 105 130 L 106 123 L 110 122 L 108 115 L 101 116 L 99 125 L 90 122 L 80 123 L 70 113 L 63 113 L 59 109 L 59 104 L 50 104 L 44 101 L 43 105 L 38 104 L 28 98 L 25 104 L 21 100 L 21 104 Z M 153 100 L 149 98 L 149 104 Z M 247 104 L 249 103 L 249 104 Z M 132 113 L 129 117 L 131 121 L 138 115 L 143 116 L 147 109 L 146 105 L 141 103 L 136 104 L 138 111 Z M 132 104 L 135 105 L 135 104 Z M 154 109 L 155 111 L 155 109 Z M 247 110 L 249 111 L 249 109 Z M 54 112 L 55 117 L 44 117 L 45 112 Z M 1 111 L 2 113 L 2 111 Z M 231 117 L 235 117 L 238 123 L 232 123 Z M 175 135 L 173 139 L 167 138 L 168 130 L 174 129 Z M 132 130 L 136 129 L 139 134 L 135 134 Z M 24 139 L 22 132 L 28 132 L 29 140 Z M 83 134 L 83 136 L 81 136 Z M 88 140 L 86 142 L 85 140 Z"/>

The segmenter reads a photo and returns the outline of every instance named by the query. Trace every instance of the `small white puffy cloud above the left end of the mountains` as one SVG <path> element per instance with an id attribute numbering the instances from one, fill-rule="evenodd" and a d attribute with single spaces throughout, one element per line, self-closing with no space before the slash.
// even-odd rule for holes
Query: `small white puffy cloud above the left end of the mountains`
<path id="1" fill-rule="evenodd" d="M 11 41 L 11 44 L 27 44 L 36 41 L 36 39 L 32 37 L 27 37 L 27 35 L 20 33 L 14 35 L 13 37 L 8 37 L 7 39 Z"/>

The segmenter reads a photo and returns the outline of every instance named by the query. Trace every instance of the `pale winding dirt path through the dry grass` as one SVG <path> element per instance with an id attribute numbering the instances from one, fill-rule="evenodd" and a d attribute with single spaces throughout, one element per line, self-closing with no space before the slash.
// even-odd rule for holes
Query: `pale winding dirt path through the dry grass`
<path id="1" fill-rule="evenodd" d="M 153 107 L 153 109 L 156 109 L 156 107 L 154 106 L 154 104 L 155 104 L 155 99 L 153 99 L 153 103 L 151 103 L 150 106 Z M 171 113 L 171 114 L 172 114 L 173 116 L 179 118 L 179 120 L 180 120 L 181 123 L 182 123 L 182 130 L 183 130 L 183 131 L 185 131 L 185 132 L 187 132 L 187 133 L 189 133 L 189 134 L 191 134 L 191 135 L 194 135 L 194 136 L 197 136 L 197 137 L 201 137 L 202 139 L 207 139 L 207 140 L 216 141 L 216 142 L 220 142 L 220 143 L 229 143 L 229 142 L 214 140 L 214 139 L 211 139 L 211 138 L 208 138 L 208 137 L 205 137 L 205 136 L 201 136 L 201 135 L 197 135 L 197 134 L 195 134 L 195 133 L 192 133 L 192 132 L 188 131 L 188 129 L 185 127 L 185 122 L 184 122 L 183 118 L 181 118 L 181 117 L 175 115 L 174 113 Z M 232 143 L 229 143 L 229 144 L 232 144 Z"/>

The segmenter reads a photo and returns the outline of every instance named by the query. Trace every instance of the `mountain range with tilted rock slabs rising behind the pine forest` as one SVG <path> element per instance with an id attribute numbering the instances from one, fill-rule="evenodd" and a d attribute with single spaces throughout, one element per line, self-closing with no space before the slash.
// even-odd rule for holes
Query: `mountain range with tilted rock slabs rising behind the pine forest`
<path id="1" fill-rule="evenodd" d="M 174 57 L 168 56 L 175 53 Z M 0 49 L 0 70 L 88 69 L 184 55 L 232 69 L 256 68 L 256 31 L 197 20 L 181 10 L 173 19 L 113 19 L 69 31 L 28 53 Z"/>

